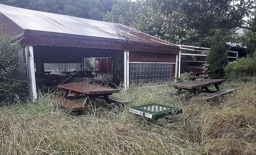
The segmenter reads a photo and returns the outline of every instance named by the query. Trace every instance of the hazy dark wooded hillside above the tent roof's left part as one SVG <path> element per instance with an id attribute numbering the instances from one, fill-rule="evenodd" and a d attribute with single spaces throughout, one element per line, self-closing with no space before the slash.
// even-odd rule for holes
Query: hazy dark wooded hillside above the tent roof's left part
<path id="1" fill-rule="evenodd" d="M 118 0 L 1 0 L 1 4 L 102 20 Z"/>

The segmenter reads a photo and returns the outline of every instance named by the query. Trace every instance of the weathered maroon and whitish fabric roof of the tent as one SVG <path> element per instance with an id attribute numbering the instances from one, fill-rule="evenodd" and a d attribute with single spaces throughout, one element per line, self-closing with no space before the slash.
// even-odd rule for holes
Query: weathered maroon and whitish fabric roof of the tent
<path id="1" fill-rule="evenodd" d="M 22 45 L 70 46 L 177 54 L 179 47 L 117 23 L 0 4 L 0 22 Z"/>

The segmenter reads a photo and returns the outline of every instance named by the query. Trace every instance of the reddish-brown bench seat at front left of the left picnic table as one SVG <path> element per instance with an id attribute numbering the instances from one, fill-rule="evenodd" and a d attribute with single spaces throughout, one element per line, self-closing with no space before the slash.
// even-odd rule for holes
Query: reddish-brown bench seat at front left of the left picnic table
<path id="1" fill-rule="evenodd" d="M 72 111 L 72 112 L 78 112 L 78 115 L 82 115 L 86 107 L 80 103 L 77 103 L 75 101 L 65 99 L 62 97 L 56 97 L 55 99 L 58 101 L 59 105 L 62 108 L 68 109 L 69 111 Z"/>

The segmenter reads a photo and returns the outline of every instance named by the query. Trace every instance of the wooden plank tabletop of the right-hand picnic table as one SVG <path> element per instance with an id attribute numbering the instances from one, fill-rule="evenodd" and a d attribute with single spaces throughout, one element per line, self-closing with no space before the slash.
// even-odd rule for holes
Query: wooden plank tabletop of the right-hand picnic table
<path id="1" fill-rule="evenodd" d="M 174 83 L 169 86 L 172 86 L 174 88 L 194 89 L 194 88 L 200 88 L 203 86 L 221 84 L 224 81 L 225 81 L 224 79 L 203 79 L 203 80 L 196 80 L 196 81 L 189 81 L 189 82 Z"/>

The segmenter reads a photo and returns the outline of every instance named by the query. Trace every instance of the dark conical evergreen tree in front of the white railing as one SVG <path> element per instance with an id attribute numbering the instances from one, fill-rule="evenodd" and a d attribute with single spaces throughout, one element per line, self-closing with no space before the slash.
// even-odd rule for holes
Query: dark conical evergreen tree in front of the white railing
<path id="1" fill-rule="evenodd" d="M 224 66 L 227 63 L 226 43 L 221 39 L 220 32 L 216 31 L 211 43 L 211 51 L 207 57 L 206 72 L 210 78 L 222 78 L 224 76 Z"/>

